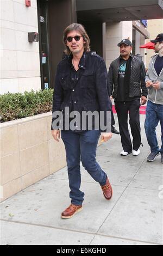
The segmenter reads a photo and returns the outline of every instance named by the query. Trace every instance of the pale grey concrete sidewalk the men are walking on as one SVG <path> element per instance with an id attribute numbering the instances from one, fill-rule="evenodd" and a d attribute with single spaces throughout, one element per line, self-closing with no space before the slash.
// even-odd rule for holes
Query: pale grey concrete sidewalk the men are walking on
<path id="1" fill-rule="evenodd" d="M 84 209 L 60 218 L 70 204 L 66 168 L 1 203 L 2 245 L 145 245 L 162 244 L 163 164 L 149 153 L 141 115 L 139 156 L 122 157 L 120 136 L 97 149 L 97 161 L 108 174 L 114 194 L 110 201 L 82 168 Z M 115 115 L 116 124 L 117 117 Z M 118 129 L 118 128 L 117 128 Z M 158 126 L 159 145 L 160 124 Z"/>

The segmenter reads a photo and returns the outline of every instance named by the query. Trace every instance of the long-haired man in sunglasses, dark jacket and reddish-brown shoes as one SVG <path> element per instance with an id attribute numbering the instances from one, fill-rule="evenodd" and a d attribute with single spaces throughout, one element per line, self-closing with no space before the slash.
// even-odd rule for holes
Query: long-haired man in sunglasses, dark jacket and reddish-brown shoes
<path id="1" fill-rule="evenodd" d="M 71 204 L 62 212 L 61 218 L 71 218 L 83 209 L 84 192 L 80 191 L 80 161 L 92 178 L 101 185 L 104 197 L 107 200 L 112 197 L 109 179 L 96 162 L 96 148 L 100 134 L 105 142 L 112 136 L 111 118 L 108 115 L 111 111 L 111 101 L 108 95 L 108 77 L 104 60 L 90 52 L 90 39 L 84 27 L 78 23 L 68 26 L 64 31 L 63 41 L 67 57 L 65 56 L 59 63 L 55 77 L 52 135 L 56 141 L 61 137 L 65 144 Z M 70 115 L 66 113 L 67 108 Z M 60 118 L 55 112 L 66 113 L 62 127 Z M 73 121 L 74 112 L 76 113 L 74 116 L 78 113 L 83 115 L 83 112 L 96 112 L 97 115 L 103 112 L 103 118 L 102 120 L 99 118 L 98 122 L 93 118 L 90 121 L 88 118 L 83 129 L 83 118 L 79 117 Z M 79 125 L 80 120 L 82 120 L 82 128 Z M 101 121 L 104 121 L 105 125 L 97 129 L 96 125 Z M 107 125 L 108 123 L 110 125 Z M 110 130 L 107 127 L 110 127 Z"/>

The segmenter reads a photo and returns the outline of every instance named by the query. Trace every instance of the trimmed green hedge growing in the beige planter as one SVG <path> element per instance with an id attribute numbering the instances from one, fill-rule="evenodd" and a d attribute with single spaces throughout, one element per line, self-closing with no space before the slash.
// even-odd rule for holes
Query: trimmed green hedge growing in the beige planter
<path id="1" fill-rule="evenodd" d="M 0 95 L 0 123 L 52 111 L 53 89 Z"/>

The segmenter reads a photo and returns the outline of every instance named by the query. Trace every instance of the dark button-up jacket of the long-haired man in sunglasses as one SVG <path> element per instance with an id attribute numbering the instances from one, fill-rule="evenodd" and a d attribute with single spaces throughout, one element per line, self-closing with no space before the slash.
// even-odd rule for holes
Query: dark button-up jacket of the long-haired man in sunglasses
<path id="1" fill-rule="evenodd" d="M 53 113 L 73 106 L 73 111 L 111 111 L 108 95 L 108 72 L 104 60 L 92 52 L 84 52 L 79 62 L 79 77 L 74 86 L 71 77 L 72 55 L 57 67 L 53 94 Z M 52 130 L 53 121 L 52 119 Z M 106 120 L 105 120 L 106 124 Z"/>

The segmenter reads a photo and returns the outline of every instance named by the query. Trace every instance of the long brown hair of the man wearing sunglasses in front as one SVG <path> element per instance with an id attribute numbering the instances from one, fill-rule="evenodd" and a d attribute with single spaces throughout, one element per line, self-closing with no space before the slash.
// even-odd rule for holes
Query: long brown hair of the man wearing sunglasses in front
<path id="1" fill-rule="evenodd" d="M 85 52 L 90 52 L 90 38 L 87 35 L 87 33 L 85 31 L 85 28 L 81 24 L 72 23 L 64 31 L 63 41 L 64 41 L 64 44 L 66 46 L 65 54 L 70 55 L 70 53 L 71 53 L 70 49 L 66 45 L 67 44 L 67 34 L 70 33 L 71 31 L 78 31 L 83 36 L 83 39 L 85 40 L 84 51 Z"/>

